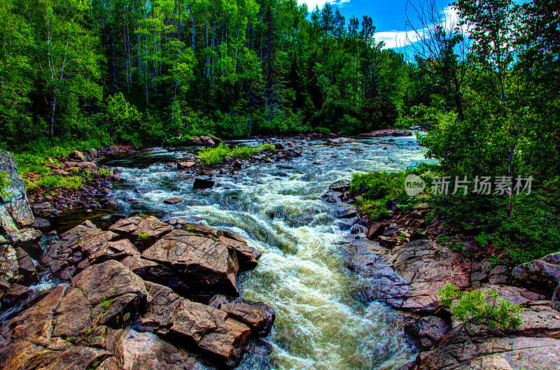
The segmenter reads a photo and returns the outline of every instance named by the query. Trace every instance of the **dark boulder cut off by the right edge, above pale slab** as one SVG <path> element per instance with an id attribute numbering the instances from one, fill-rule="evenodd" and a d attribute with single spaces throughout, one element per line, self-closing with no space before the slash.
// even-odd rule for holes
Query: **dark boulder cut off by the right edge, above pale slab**
<path id="1" fill-rule="evenodd" d="M 512 276 L 522 285 L 552 297 L 560 283 L 560 252 L 517 266 Z"/>

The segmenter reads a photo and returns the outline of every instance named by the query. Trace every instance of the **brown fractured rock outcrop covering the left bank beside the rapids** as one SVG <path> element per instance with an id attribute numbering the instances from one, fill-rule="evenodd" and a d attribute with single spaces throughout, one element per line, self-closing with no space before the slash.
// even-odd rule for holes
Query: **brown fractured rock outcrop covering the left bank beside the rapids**
<path id="1" fill-rule="evenodd" d="M 243 239 L 153 217 L 43 236 L 13 158 L 0 163 L 1 369 L 230 368 L 269 333 L 274 310 L 238 298 L 260 257 Z"/>

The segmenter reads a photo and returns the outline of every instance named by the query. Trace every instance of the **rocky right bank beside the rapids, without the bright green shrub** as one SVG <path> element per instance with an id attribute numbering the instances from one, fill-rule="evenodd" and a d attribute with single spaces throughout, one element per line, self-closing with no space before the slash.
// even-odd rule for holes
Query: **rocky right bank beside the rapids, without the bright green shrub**
<path id="1" fill-rule="evenodd" d="M 334 183 L 329 199 L 351 206 L 350 183 Z M 472 234 L 447 225 L 417 204 L 370 221 L 358 212 L 352 230 L 367 240 L 347 248 L 346 264 L 360 278 L 365 300 L 381 300 L 409 315 L 405 331 L 421 350 L 400 369 L 557 369 L 560 364 L 560 253 L 511 266 L 493 264 Z M 444 240 L 462 243 L 463 251 Z M 458 322 L 438 291 L 493 290 L 521 306 L 520 325 L 496 329 L 475 319 Z M 536 362 L 535 362 L 536 361 Z"/>

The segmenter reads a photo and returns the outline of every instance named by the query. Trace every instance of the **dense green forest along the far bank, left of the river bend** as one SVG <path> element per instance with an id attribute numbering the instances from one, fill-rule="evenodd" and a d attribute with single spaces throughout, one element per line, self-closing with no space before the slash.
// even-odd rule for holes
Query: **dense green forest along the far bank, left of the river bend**
<path id="1" fill-rule="evenodd" d="M 295 0 L 8 0 L 2 129 L 165 143 L 393 124 L 408 65 L 370 17 Z M 348 23 L 348 25 L 346 25 Z"/>

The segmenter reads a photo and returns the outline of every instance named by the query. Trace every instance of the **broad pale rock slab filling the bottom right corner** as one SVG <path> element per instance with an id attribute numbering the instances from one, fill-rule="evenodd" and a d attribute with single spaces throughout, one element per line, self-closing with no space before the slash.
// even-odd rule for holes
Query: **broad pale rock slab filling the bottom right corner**
<path id="1" fill-rule="evenodd" d="M 508 336 L 470 320 L 447 333 L 412 369 L 558 369 L 560 339 Z"/>

